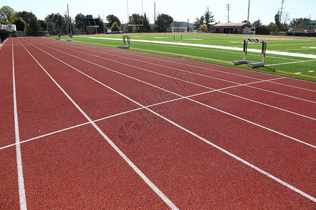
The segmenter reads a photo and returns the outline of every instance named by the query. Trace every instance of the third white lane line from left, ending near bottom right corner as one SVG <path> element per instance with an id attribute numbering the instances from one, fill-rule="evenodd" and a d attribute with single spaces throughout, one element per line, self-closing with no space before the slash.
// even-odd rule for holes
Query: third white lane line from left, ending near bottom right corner
<path id="1" fill-rule="evenodd" d="M 35 45 L 33 45 L 33 46 L 38 48 Z M 41 48 L 38 48 L 38 49 L 41 50 Z M 48 52 L 46 52 L 44 50 L 41 50 L 41 51 L 45 52 L 48 55 L 51 55 L 51 54 L 49 54 Z M 54 57 L 54 56 L 51 55 L 51 57 Z M 99 80 L 96 80 L 96 78 L 88 76 L 86 73 L 83 73 L 82 71 L 79 71 L 79 69 L 74 68 L 70 64 L 67 64 L 66 62 L 63 62 L 62 60 L 58 59 L 57 57 L 54 57 L 54 58 L 57 59 L 58 61 L 62 62 L 63 64 L 66 64 L 67 66 L 70 66 L 72 69 L 78 71 L 79 73 L 82 73 L 84 76 L 87 76 L 88 78 L 91 78 L 92 80 L 94 80 L 97 83 L 103 85 L 104 87 L 107 87 L 108 89 L 110 89 L 110 90 L 116 92 L 117 94 L 125 97 L 126 99 L 129 99 L 131 102 L 137 104 L 138 106 L 143 107 L 144 109 L 146 109 L 147 111 L 150 111 L 154 115 L 159 116 L 159 118 L 162 118 L 162 119 L 166 120 L 167 122 L 171 123 L 171 125 L 174 125 L 174 126 L 180 128 L 181 130 L 187 132 L 188 134 L 191 134 L 192 136 L 197 137 L 198 139 L 204 141 L 206 144 L 209 144 L 210 146 L 213 146 L 214 148 L 217 148 L 219 151 L 222 151 L 226 155 L 229 155 L 230 157 L 234 158 L 235 160 L 238 160 L 239 162 L 242 162 L 244 165 L 247 165 L 247 166 L 251 167 L 252 169 L 255 169 L 257 172 L 259 172 L 259 173 L 261 173 L 261 174 L 263 174 L 265 176 L 268 176 L 268 178 L 270 178 L 272 180 L 275 180 L 278 183 L 281 183 L 283 186 L 285 186 L 285 187 L 287 187 L 287 188 L 289 188 L 291 190 L 294 190 L 294 192 L 296 192 L 296 193 L 298 193 L 300 195 L 303 195 L 303 197 L 306 197 L 309 200 L 312 200 L 313 202 L 316 202 L 316 198 L 315 197 L 312 197 L 311 195 L 308 195 L 307 193 L 304 193 L 303 191 L 299 190 L 298 188 L 295 188 L 294 186 L 291 186 L 289 183 L 287 183 L 285 181 L 282 181 L 281 179 L 278 179 L 276 176 L 273 176 L 272 174 L 269 174 L 268 172 L 265 172 L 263 169 L 260 169 L 259 167 L 256 167 L 255 165 L 252 165 L 250 162 L 247 162 L 246 160 L 244 160 L 242 158 L 239 158 L 237 155 L 234 155 L 234 154 L 230 153 L 229 151 L 226 151 L 224 148 L 221 148 L 220 146 L 217 146 L 216 144 L 213 144 L 211 141 L 208 141 L 208 140 L 204 139 L 203 137 L 200 137 L 199 135 L 195 134 L 194 132 L 191 132 L 190 130 L 187 130 L 185 127 L 182 127 L 182 126 L 178 125 L 177 123 L 173 122 L 172 120 L 169 120 L 168 118 L 165 118 L 164 116 L 161 116 L 159 113 L 156 113 L 155 111 L 152 111 L 149 108 L 145 108 L 145 106 L 143 106 L 143 104 L 140 104 L 140 103 L 134 101 L 133 99 L 127 97 L 126 95 L 122 94 L 121 92 L 118 92 L 117 90 L 114 90 L 112 87 L 109 87 L 109 86 L 105 85 L 104 83 L 101 83 Z M 84 59 L 82 59 L 82 60 L 84 60 Z M 187 97 L 184 97 L 184 98 L 187 98 Z M 193 99 L 189 99 L 189 100 L 194 102 Z M 199 104 L 202 104 L 202 103 L 199 103 Z"/>

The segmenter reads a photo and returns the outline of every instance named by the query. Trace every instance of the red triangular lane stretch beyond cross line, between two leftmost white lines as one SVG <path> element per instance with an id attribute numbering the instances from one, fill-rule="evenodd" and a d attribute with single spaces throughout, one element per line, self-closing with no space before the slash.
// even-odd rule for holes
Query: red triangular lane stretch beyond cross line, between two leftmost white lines
<path id="1" fill-rule="evenodd" d="M 14 48 L 20 141 L 86 123 L 16 39 Z"/>

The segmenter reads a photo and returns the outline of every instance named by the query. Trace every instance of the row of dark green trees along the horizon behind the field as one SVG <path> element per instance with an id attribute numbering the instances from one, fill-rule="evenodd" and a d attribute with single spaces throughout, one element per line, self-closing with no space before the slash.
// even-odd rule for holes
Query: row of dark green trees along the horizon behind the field
<path id="1" fill-rule="evenodd" d="M 103 22 L 99 16 L 97 18 L 98 27 L 93 29 L 87 29 L 84 26 L 84 19 L 86 19 L 86 15 L 83 15 L 82 13 L 77 14 L 74 19 L 68 17 L 66 13 L 63 15 L 60 13 L 51 13 L 50 15 L 46 15 L 44 20 L 38 20 L 36 15 L 32 12 L 15 12 L 15 10 L 9 6 L 0 8 L 0 25 L 12 23 L 16 25 L 18 31 L 25 31 L 28 35 L 32 35 L 32 33 L 37 31 L 49 31 L 51 34 L 66 34 L 68 31 L 72 31 L 72 33 L 96 34 L 103 33 L 103 31 L 107 31 L 107 29 L 126 32 L 166 32 L 169 31 L 171 25 L 173 27 L 188 27 L 188 31 L 191 27 L 199 31 L 213 31 L 213 25 L 217 23 L 215 22 L 214 15 L 209 10 L 209 7 L 200 18 L 195 18 L 193 25 L 189 25 L 187 22 L 173 21 L 173 18 L 170 15 L 164 13 L 158 13 L 154 25 L 150 24 L 150 20 L 146 13 L 144 13 L 144 15 L 137 13 L 132 14 L 129 17 L 129 22 L 125 24 L 122 24 L 119 18 L 115 15 L 107 15 L 106 22 Z M 256 27 L 256 34 L 270 34 L 270 31 L 287 31 L 289 28 L 298 27 L 307 20 L 309 19 L 294 18 L 290 21 L 286 16 L 283 18 L 282 22 L 279 13 L 277 13 L 275 15 L 275 22 L 271 22 L 269 25 L 263 25 L 260 19 L 254 21 L 252 25 Z M 70 22 L 72 23 L 71 25 Z M 244 22 L 246 22 L 246 20 Z"/>

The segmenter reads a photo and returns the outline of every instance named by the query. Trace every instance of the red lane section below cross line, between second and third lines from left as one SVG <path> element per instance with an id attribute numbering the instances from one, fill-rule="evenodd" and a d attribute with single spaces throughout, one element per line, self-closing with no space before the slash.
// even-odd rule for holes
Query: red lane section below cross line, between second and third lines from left
<path id="1" fill-rule="evenodd" d="M 192 109 L 193 106 L 195 105 L 192 105 Z M 178 105 L 175 108 L 180 109 Z M 204 111 L 201 113 L 205 114 Z M 104 120 L 98 125 L 101 128 L 107 127 L 113 141 L 117 142 L 122 151 L 129 154 L 131 160 L 138 162 L 150 179 L 156 180 L 157 184 L 162 186 L 164 192 L 180 209 L 295 209 L 300 205 L 301 208 L 308 209 L 315 205 L 314 202 L 291 193 L 288 188 L 206 145 L 196 137 L 171 128 L 162 118 L 152 116 L 149 112 L 142 114 L 152 119 L 151 125 L 143 120 L 139 113 L 129 113 L 115 120 Z M 179 112 L 172 115 L 178 115 L 178 119 L 182 118 L 184 126 L 187 127 L 187 118 L 183 118 Z M 196 118 L 199 117 L 195 116 L 191 120 Z M 122 122 L 131 120 L 140 126 L 140 132 L 136 134 L 133 144 L 126 144 L 124 138 L 119 135 L 119 127 Z M 205 118 L 203 120 L 206 124 Z M 212 135 L 213 138 L 218 135 L 206 131 L 204 126 L 196 131 Z M 133 130 L 130 132 L 133 133 Z"/>

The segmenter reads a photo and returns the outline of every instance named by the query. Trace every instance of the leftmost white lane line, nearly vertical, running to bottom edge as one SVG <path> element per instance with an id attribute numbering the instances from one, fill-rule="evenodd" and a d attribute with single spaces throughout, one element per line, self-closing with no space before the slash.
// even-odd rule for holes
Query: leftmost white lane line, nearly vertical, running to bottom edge
<path id="1" fill-rule="evenodd" d="M 13 106 L 14 106 L 14 127 L 15 127 L 15 148 L 16 148 L 16 163 L 18 167 L 18 186 L 19 186 L 19 199 L 20 209 L 27 209 L 27 201 L 25 197 L 25 186 L 22 169 L 22 155 L 20 148 L 20 133 L 18 123 L 18 106 L 16 102 L 16 89 L 15 89 L 15 66 L 14 66 L 14 51 L 13 51 L 13 39 L 12 40 L 12 74 L 13 74 Z"/>

